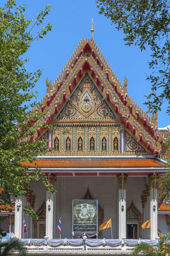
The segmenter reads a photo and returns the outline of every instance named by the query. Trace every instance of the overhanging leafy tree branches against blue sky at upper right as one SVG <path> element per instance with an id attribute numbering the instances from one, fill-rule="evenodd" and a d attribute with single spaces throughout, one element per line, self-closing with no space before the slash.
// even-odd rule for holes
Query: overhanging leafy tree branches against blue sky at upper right
<path id="1" fill-rule="evenodd" d="M 145 104 L 153 113 L 161 110 L 165 100 L 169 103 L 169 1 L 168 0 L 97 0 L 99 13 L 111 19 L 112 24 L 125 34 L 125 45 L 146 47 L 152 52 L 148 63 L 152 70 L 146 79 L 152 90 Z"/>

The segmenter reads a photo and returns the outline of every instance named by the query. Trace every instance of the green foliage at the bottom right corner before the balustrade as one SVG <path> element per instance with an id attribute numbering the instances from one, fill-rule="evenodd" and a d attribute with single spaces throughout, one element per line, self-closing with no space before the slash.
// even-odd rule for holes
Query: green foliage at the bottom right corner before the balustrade
<path id="1" fill-rule="evenodd" d="M 132 250 L 132 256 L 136 256 L 140 254 L 148 255 L 148 256 L 162 256 L 165 255 L 163 243 L 164 241 L 167 241 L 170 239 L 170 234 L 164 235 L 159 239 L 159 243 L 157 246 L 151 246 L 147 243 L 139 243 L 136 246 L 134 246 Z M 170 253 L 170 246 L 169 244 L 166 244 L 166 252 Z"/>

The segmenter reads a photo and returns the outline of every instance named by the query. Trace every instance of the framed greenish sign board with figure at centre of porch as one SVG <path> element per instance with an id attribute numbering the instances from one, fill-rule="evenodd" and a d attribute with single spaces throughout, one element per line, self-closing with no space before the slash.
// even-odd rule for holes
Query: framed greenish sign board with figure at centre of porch
<path id="1" fill-rule="evenodd" d="M 97 200 L 73 200 L 73 232 L 96 232 Z"/>

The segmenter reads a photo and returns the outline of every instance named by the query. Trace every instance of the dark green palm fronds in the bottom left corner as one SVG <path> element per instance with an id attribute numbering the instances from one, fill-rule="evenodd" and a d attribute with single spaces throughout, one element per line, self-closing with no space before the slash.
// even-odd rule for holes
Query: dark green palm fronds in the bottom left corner
<path id="1" fill-rule="evenodd" d="M 11 252 L 18 252 L 20 256 L 25 256 L 27 249 L 18 238 L 11 238 L 8 242 L 0 243 L 0 256 L 9 255 Z"/>

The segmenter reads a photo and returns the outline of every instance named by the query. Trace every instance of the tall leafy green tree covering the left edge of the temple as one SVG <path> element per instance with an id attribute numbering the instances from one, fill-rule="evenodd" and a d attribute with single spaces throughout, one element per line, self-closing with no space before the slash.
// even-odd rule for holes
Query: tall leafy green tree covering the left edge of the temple
<path id="1" fill-rule="evenodd" d="M 25 5 L 17 6 L 15 0 L 8 0 L 0 8 L 0 205 L 12 205 L 11 198 L 24 195 L 32 180 L 42 179 L 46 188 L 55 192 L 39 168 L 29 174 L 29 164 L 21 164 L 32 163 L 37 153 L 46 152 L 43 141 L 28 140 L 43 125 L 41 117 L 45 112 L 39 113 L 35 102 L 30 103 L 36 100 L 32 90 L 41 70 L 27 72 L 25 63 L 29 60 L 24 54 L 32 42 L 52 29 L 51 24 L 39 29 L 49 11 L 50 6 L 46 6 L 33 21 L 25 19 Z M 28 207 L 24 210 L 33 214 Z"/>

